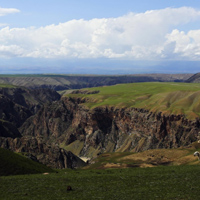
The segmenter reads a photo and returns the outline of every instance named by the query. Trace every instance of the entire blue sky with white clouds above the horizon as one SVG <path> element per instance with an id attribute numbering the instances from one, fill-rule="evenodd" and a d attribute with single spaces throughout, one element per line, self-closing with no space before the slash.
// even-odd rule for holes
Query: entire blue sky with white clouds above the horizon
<path id="1" fill-rule="evenodd" d="M 1 0 L 0 73 L 200 72 L 199 0 Z"/>

